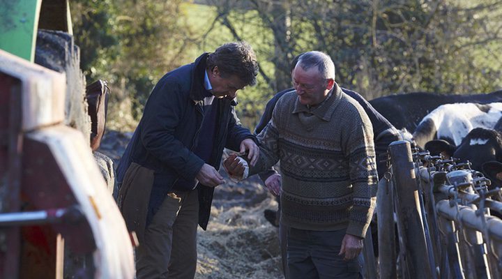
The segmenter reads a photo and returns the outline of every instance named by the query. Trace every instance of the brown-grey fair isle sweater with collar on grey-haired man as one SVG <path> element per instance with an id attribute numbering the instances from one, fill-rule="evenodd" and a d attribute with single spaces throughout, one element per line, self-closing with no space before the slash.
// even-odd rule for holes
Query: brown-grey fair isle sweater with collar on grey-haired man
<path id="1" fill-rule="evenodd" d="M 280 160 L 281 221 L 298 229 L 365 237 L 377 186 L 373 131 L 363 108 L 335 84 L 333 94 L 309 110 L 296 91 L 278 102 L 258 135 L 259 161 L 250 174 Z"/>

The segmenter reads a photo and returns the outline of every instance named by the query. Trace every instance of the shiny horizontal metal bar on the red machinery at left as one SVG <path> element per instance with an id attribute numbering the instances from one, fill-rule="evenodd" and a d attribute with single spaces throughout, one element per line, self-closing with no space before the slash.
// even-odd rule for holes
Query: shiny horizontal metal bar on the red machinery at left
<path id="1" fill-rule="evenodd" d="M 47 211 L 28 211 L 0 214 L 0 227 L 41 225 L 47 223 L 77 222 L 83 217 L 77 206 L 68 209 L 50 209 Z"/>

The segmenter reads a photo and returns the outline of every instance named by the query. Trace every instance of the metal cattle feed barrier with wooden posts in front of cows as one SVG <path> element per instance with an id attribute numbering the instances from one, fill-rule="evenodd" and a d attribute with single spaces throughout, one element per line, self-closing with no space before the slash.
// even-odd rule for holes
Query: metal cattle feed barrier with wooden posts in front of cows
<path id="1" fill-rule="evenodd" d="M 389 151 L 377 197 L 379 277 L 502 278 L 500 188 L 469 162 L 412 153 L 405 141 Z"/>

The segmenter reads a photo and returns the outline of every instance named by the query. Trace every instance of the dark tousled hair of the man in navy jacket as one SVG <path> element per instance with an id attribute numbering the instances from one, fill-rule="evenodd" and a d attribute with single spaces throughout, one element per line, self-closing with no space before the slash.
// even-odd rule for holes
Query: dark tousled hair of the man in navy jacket
<path id="1" fill-rule="evenodd" d="M 218 47 L 207 59 L 208 68 L 215 66 L 218 66 L 222 77 L 236 75 L 246 85 L 256 84 L 258 63 L 248 43 L 226 43 Z"/>

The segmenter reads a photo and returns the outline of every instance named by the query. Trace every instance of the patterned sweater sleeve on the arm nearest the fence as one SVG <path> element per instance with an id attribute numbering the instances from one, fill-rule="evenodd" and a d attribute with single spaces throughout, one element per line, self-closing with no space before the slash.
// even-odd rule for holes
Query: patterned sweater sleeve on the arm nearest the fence
<path id="1" fill-rule="evenodd" d="M 347 134 L 345 142 L 353 190 L 347 234 L 365 237 L 375 206 L 372 188 L 377 187 L 378 181 L 372 125 L 367 114 L 363 110 L 358 111 L 354 112 L 353 117 L 346 118 L 351 119 L 351 132 Z M 360 124 L 353 125 L 354 121 Z"/>

